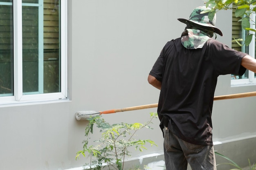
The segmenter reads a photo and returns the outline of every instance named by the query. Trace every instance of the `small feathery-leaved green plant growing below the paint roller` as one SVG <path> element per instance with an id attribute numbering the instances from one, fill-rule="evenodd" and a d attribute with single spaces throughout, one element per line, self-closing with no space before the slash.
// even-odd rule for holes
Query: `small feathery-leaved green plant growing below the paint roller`
<path id="1" fill-rule="evenodd" d="M 149 124 L 155 118 L 157 118 L 157 113 L 150 113 L 150 120 L 145 124 L 109 124 L 101 116 L 90 117 L 88 119 L 89 124 L 85 128 L 86 139 L 83 141 L 83 150 L 76 153 L 76 159 L 79 159 L 81 154 L 84 157 L 89 157 L 90 163 L 86 163 L 84 169 L 101 170 L 103 163 L 105 163 L 108 170 L 123 170 L 125 157 L 130 157 L 128 148 L 133 146 L 136 150 L 143 151 L 143 149 L 147 149 L 146 144 L 157 146 L 154 141 L 149 139 L 134 138 L 138 130 L 142 128 L 152 129 Z M 94 124 L 100 129 L 101 138 L 94 141 L 97 144 L 89 146 Z"/>

